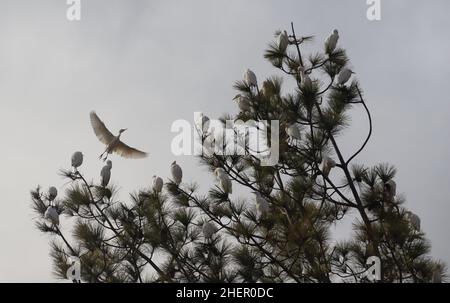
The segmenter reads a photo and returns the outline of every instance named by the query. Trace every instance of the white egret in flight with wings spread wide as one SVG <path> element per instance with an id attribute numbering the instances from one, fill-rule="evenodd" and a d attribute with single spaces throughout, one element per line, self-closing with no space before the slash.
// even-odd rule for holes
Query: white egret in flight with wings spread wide
<path id="1" fill-rule="evenodd" d="M 130 158 L 130 159 L 141 159 L 147 157 L 147 153 L 137 150 L 133 147 L 130 147 L 120 141 L 120 136 L 124 131 L 126 131 L 126 128 L 122 128 L 119 130 L 119 134 L 117 136 L 114 136 L 105 126 L 105 124 L 100 120 L 100 118 L 97 116 L 97 114 L 92 111 L 90 114 L 91 118 L 91 125 L 94 129 L 94 133 L 97 136 L 97 138 L 106 145 L 105 151 L 100 155 L 99 159 L 103 157 L 104 154 L 106 154 L 103 161 L 106 161 L 109 154 L 116 153 L 121 157 L 124 158 Z"/>

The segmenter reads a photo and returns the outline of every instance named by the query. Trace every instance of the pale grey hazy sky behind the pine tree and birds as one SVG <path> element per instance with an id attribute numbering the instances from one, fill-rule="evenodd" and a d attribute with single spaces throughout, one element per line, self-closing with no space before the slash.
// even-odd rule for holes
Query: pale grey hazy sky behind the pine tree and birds
<path id="1" fill-rule="evenodd" d="M 0 282 L 55 281 L 29 190 L 63 192 L 57 172 L 75 150 L 85 154 L 82 172 L 98 180 L 103 146 L 91 110 L 114 133 L 128 127 L 124 140 L 150 153 L 112 157 L 124 197 L 154 174 L 166 179 L 173 160 L 184 180 L 209 184 L 195 158 L 171 154 L 170 126 L 198 110 L 235 112 L 233 82 L 247 67 L 259 79 L 274 74 L 263 52 L 290 21 L 316 36 L 317 50 L 339 29 L 374 120 L 358 161 L 397 166 L 397 191 L 421 217 L 433 255 L 450 263 L 449 1 L 382 0 L 379 22 L 366 19 L 365 0 L 81 2 L 79 22 L 67 21 L 63 0 L 0 2 Z M 363 114 L 354 112 L 340 138 L 347 154 L 365 136 Z"/>

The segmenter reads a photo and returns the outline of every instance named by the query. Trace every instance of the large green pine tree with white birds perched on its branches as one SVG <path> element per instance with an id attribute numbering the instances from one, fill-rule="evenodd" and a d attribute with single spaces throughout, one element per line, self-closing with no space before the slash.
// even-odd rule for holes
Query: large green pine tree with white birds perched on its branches
<path id="1" fill-rule="evenodd" d="M 63 197 L 39 187 L 31 192 L 37 227 L 54 235 L 58 277 L 66 278 L 76 257 L 84 282 L 370 282 L 366 263 L 375 256 L 381 282 L 446 278 L 445 265 L 429 256 L 420 219 L 397 194 L 396 169 L 354 163 L 370 140 L 372 117 L 359 83 L 349 79 L 355 77 L 337 47 L 338 32 L 323 51 L 306 56 L 313 37 L 297 36 L 293 25 L 290 31 L 275 34 L 265 58 L 295 89 L 286 92 L 275 76 L 259 85 L 247 71 L 234 86 L 239 113 L 222 117 L 280 121 L 278 164 L 263 166 L 248 150 L 203 154 L 202 165 L 217 179 L 207 194 L 195 183 L 168 180 L 163 190 L 156 182 L 128 203 L 77 169 L 62 171 L 70 180 Z M 338 138 L 351 108 L 367 115 L 369 132 L 345 156 Z M 202 140 L 211 135 L 199 133 Z M 231 193 L 233 186 L 248 192 L 245 199 Z M 51 220 L 49 208 L 73 217 L 71 235 L 59 228 L 68 220 Z M 331 231 L 345 218 L 355 220 L 352 235 L 336 242 Z"/>

